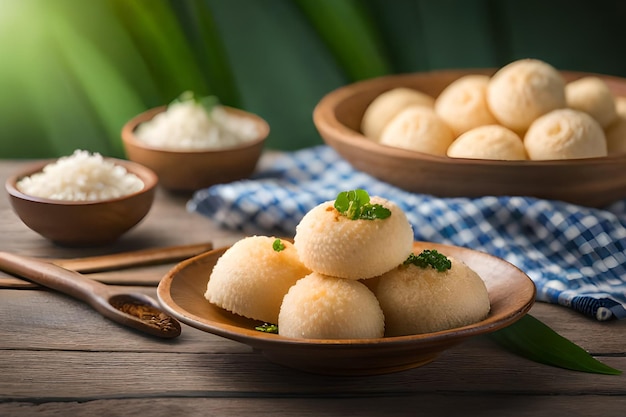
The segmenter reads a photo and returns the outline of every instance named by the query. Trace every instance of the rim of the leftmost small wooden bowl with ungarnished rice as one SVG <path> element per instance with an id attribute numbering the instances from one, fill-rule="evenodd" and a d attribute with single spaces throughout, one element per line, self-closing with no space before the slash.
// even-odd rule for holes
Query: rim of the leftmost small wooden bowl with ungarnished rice
<path id="1" fill-rule="evenodd" d="M 94 206 L 99 204 L 110 204 L 115 203 L 122 200 L 128 200 L 133 197 L 153 192 L 159 183 L 159 179 L 157 174 L 151 170 L 150 168 L 141 165 L 137 162 L 129 161 L 126 159 L 119 159 L 113 157 L 103 157 L 105 161 L 113 162 L 116 165 L 123 166 L 129 173 L 135 174 L 141 179 L 144 186 L 141 190 L 135 191 L 130 194 L 122 195 L 115 198 L 108 198 L 104 200 L 85 200 L 85 201 L 76 201 L 76 200 L 59 200 L 54 198 L 46 198 L 46 197 L 38 197 L 30 194 L 23 193 L 17 188 L 17 182 L 27 176 L 36 174 L 40 172 L 46 165 L 50 163 L 54 163 L 58 160 L 58 158 L 53 159 L 43 159 L 38 162 L 33 162 L 27 168 L 23 169 L 20 172 L 14 173 L 7 178 L 5 181 L 5 189 L 7 193 L 13 198 L 18 198 L 24 201 L 31 201 L 33 203 L 40 204 L 49 204 L 49 205 L 57 205 L 57 206 Z"/>

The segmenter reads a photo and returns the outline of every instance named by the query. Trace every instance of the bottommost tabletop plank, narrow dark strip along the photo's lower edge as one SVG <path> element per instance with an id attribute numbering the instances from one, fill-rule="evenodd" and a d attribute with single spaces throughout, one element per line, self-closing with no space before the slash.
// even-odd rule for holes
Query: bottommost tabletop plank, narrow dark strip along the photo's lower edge
<path id="1" fill-rule="evenodd" d="M 140 398 L 87 402 L 0 403 L 0 415 L 12 417 L 172 416 L 481 416 L 481 417 L 623 417 L 626 398 L 601 395 L 467 396 L 438 393 L 370 398 Z"/>

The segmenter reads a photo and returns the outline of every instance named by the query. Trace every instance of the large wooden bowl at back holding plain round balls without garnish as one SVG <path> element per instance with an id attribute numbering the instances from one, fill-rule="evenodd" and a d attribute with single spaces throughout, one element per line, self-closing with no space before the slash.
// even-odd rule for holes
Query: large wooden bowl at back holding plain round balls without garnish
<path id="1" fill-rule="evenodd" d="M 404 190 L 438 197 L 533 196 L 601 207 L 626 197 L 626 154 L 559 161 L 494 161 L 448 158 L 381 145 L 360 132 L 372 100 L 395 87 L 437 97 L 452 81 L 495 70 L 443 70 L 374 78 L 338 88 L 322 98 L 313 120 L 324 141 L 354 168 Z M 626 79 L 561 72 L 567 81 L 588 75 L 604 79 L 626 96 Z"/>

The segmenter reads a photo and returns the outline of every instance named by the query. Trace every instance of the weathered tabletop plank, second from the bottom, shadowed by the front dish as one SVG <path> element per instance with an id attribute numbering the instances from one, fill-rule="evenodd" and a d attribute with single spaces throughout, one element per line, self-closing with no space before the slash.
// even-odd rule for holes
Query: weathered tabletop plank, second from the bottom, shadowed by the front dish
<path id="1" fill-rule="evenodd" d="M 472 342 L 478 343 L 478 342 Z M 605 362 L 626 369 L 626 358 Z M 77 376 L 80 376 L 79 378 Z M 440 392 L 626 396 L 626 376 L 571 372 L 484 344 L 452 349 L 393 374 L 331 377 L 268 362 L 258 353 L 6 350 L 0 400 L 88 401 L 129 397 L 369 397 Z"/>

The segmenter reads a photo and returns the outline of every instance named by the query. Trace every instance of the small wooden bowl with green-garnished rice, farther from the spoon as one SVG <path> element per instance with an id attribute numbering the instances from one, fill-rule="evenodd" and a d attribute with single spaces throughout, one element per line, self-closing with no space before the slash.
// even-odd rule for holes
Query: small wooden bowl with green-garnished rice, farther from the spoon
<path id="1" fill-rule="evenodd" d="M 249 177 L 261 156 L 269 125 L 261 117 L 226 107 L 239 117 L 255 122 L 259 135 L 245 144 L 220 150 L 172 150 L 156 148 L 135 136 L 135 129 L 165 111 L 165 106 L 150 109 L 129 120 L 122 128 L 122 142 L 128 159 L 151 168 L 159 184 L 171 191 L 193 192 L 215 184 Z"/>

